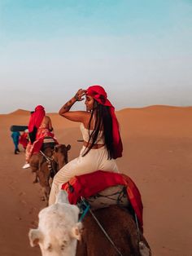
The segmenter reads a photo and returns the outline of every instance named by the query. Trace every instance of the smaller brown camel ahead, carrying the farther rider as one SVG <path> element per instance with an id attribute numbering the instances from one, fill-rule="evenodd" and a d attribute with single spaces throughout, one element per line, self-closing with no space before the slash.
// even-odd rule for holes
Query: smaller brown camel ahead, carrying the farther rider
<path id="1" fill-rule="evenodd" d="M 50 195 L 50 177 L 53 178 L 58 170 L 68 163 L 68 150 L 70 150 L 70 148 L 71 145 L 69 144 L 68 146 L 65 146 L 65 144 L 58 144 L 54 149 L 49 146 L 44 148 L 43 153 L 48 157 L 50 163 L 46 160 L 46 157 L 41 154 L 41 152 L 33 154 L 30 158 L 30 167 L 36 174 L 36 178 L 33 183 L 37 183 L 39 181 L 43 188 L 43 201 L 48 201 Z"/>

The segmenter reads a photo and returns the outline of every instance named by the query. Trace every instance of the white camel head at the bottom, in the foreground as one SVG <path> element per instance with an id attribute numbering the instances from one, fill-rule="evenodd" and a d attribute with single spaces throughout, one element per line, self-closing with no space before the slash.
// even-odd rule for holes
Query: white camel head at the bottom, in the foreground
<path id="1" fill-rule="evenodd" d="M 55 204 L 40 211 L 37 229 L 28 233 L 30 245 L 39 245 L 42 256 L 75 256 L 82 228 L 78 218 L 78 207 L 70 205 L 67 192 L 61 190 Z"/>

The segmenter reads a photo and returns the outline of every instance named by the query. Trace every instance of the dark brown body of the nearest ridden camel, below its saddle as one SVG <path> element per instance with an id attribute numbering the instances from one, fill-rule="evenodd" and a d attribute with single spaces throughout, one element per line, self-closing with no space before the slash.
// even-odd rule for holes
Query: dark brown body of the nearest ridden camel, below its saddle
<path id="1" fill-rule="evenodd" d="M 138 234 L 136 223 L 128 210 L 117 205 L 111 205 L 107 208 L 94 210 L 93 213 L 108 236 L 110 236 L 116 248 L 119 249 L 121 255 L 151 255 L 150 246 L 142 232 Z M 114 246 L 111 245 L 111 242 L 107 239 L 91 214 L 85 216 L 83 226 L 84 230 L 81 241 L 78 241 L 77 244 L 76 256 L 120 255 Z"/>

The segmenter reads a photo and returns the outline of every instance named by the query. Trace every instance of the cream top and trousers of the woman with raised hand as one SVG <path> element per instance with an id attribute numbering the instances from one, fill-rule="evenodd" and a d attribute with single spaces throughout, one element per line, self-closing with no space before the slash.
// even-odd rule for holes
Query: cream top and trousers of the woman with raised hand
<path id="1" fill-rule="evenodd" d="M 91 131 L 91 130 L 90 130 Z M 84 127 L 81 123 L 81 132 L 84 141 L 89 139 L 89 130 Z M 103 144 L 103 131 L 101 130 L 98 134 L 97 144 Z M 80 156 L 68 162 L 67 165 L 63 166 L 57 174 L 55 174 L 52 187 L 50 190 L 49 205 L 55 203 L 56 196 L 59 192 L 63 183 L 68 182 L 74 176 L 81 174 L 89 174 L 96 170 L 114 171 L 119 172 L 114 159 L 107 159 L 108 152 L 107 148 L 90 149 L 89 152 L 82 157 L 85 152 L 85 146 L 81 148 Z"/>

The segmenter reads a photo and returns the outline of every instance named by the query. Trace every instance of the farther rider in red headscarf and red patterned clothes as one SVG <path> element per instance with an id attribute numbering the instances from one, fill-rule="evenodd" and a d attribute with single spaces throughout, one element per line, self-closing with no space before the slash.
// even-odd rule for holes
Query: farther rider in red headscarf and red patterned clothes
<path id="1" fill-rule="evenodd" d="M 46 116 L 45 109 L 43 106 L 38 105 L 35 111 L 31 114 L 28 122 L 28 135 L 29 143 L 25 151 L 25 161 L 23 168 L 26 169 L 29 166 L 29 159 L 33 153 L 39 152 L 45 137 L 54 138 L 54 134 L 50 117 Z M 55 139 L 55 138 L 54 138 Z M 56 139 L 55 139 L 56 141 Z"/>

